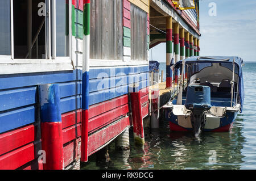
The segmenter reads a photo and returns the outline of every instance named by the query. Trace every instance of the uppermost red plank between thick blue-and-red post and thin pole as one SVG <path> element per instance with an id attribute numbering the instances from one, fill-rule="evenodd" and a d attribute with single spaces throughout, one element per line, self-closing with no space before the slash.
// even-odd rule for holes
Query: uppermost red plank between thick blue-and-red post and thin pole
<path id="1" fill-rule="evenodd" d="M 81 123 L 82 110 L 72 111 L 61 115 L 62 129 Z"/>

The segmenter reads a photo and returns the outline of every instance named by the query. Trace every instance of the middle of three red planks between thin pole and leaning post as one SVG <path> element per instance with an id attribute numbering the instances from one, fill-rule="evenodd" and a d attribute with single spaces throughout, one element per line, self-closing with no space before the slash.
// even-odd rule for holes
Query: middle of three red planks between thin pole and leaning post
<path id="1" fill-rule="evenodd" d="M 128 112 L 129 106 L 128 104 L 125 104 L 124 106 L 115 108 L 112 111 L 108 111 L 106 113 L 93 117 L 92 119 L 89 119 L 88 132 L 96 131 L 97 129 L 102 128 L 105 125 L 110 124 L 118 117 L 126 115 Z"/>

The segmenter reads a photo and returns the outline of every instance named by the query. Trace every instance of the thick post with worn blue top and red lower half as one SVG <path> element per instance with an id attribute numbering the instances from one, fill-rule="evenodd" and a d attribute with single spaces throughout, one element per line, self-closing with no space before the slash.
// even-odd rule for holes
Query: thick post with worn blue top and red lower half
<path id="1" fill-rule="evenodd" d="M 64 169 L 63 134 L 60 112 L 60 87 L 39 86 L 42 150 L 46 151 L 44 170 Z"/>

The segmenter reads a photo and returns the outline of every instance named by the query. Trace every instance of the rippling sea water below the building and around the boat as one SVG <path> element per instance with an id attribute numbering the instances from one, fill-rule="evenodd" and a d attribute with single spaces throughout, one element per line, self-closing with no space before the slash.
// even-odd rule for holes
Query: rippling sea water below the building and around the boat
<path id="1" fill-rule="evenodd" d="M 130 130 L 129 151 L 115 150 L 113 141 L 109 165 L 96 166 L 92 155 L 82 169 L 256 169 L 256 63 L 245 62 L 243 78 L 245 104 L 231 132 L 203 133 L 196 140 L 191 133 L 170 132 L 161 120 L 159 129 L 145 130 L 144 148 L 134 145 Z M 209 153 L 216 153 L 216 163 L 209 162 Z"/>

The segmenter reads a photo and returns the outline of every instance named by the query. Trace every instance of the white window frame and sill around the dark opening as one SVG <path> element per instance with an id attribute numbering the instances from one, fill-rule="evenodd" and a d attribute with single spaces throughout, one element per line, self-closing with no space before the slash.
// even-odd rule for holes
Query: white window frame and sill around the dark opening
<path id="1" fill-rule="evenodd" d="M 51 53 L 51 46 L 52 45 L 56 46 L 55 44 L 56 39 L 51 40 L 51 33 L 53 33 L 53 37 L 56 35 L 55 23 L 54 23 L 54 26 L 51 27 L 51 11 L 48 11 L 49 14 L 47 16 L 47 10 L 51 10 L 52 0 L 45 0 L 46 2 L 46 59 L 14 58 L 13 1 L 15 0 L 10 0 L 11 55 L 10 56 L 0 55 L 0 75 L 74 70 L 75 68 L 72 63 L 72 1 L 69 0 L 69 57 L 56 57 L 56 56 L 52 56 L 52 53 Z M 56 0 L 53 0 L 53 2 L 55 1 Z M 55 11 L 53 11 L 52 14 L 54 17 Z M 54 49 L 56 49 L 56 47 Z"/>

